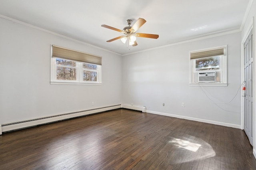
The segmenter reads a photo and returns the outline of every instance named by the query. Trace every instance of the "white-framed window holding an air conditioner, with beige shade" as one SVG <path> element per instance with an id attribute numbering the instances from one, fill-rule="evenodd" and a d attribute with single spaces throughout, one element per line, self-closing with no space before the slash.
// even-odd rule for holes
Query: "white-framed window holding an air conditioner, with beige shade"
<path id="1" fill-rule="evenodd" d="M 190 51 L 190 85 L 227 86 L 227 46 Z"/>

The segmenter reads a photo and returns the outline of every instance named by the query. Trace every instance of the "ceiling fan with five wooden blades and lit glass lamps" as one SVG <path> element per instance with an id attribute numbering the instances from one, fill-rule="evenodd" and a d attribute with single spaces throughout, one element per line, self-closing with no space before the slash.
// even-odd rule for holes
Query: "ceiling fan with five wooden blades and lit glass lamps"
<path id="1" fill-rule="evenodd" d="M 116 37 L 116 38 L 113 38 L 111 40 L 108 40 L 107 42 L 112 42 L 114 40 L 118 40 L 118 39 L 121 39 L 121 41 L 123 43 L 126 43 L 126 40 L 127 41 L 127 44 L 130 46 L 136 46 L 138 45 L 137 42 L 136 42 L 136 37 L 143 37 L 143 38 L 154 38 L 154 39 L 157 39 L 159 37 L 159 35 L 156 35 L 156 34 L 144 34 L 144 33 L 136 33 L 136 31 L 143 25 L 145 24 L 146 20 L 144 20 L 143 18 L 139 18 L 133 26 L 130 26 L 132 24 L 132 20 L 128 19 L 126 20 L 126 23 L 128 24 L 127 27 L 124 27 L 123 30 L 119 30 L 117 28 L 114 28 L 114 27 L 110 27 L 110 26 L 107 26 L 107 25 L 101 25 L 102 27 L 104 28 L 108 28 L 110 30 L 114 30 L 114 31 L 118 31 L 118 32 L 121 32 L 121 33 L 124 33 L 124 36 L 119 36 L 119 37 Z"/>

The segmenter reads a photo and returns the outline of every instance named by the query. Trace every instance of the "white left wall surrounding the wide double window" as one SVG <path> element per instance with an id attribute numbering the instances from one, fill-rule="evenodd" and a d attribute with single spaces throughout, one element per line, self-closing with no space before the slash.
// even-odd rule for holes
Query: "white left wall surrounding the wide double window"
<path id="1" fill-rule="evenodd" d="M 102 56 L 102 85 L 50 85 L 51 44 Z M 0 18 L 0 124 L 120 104 L 121 77 L 119 55 Z"/>

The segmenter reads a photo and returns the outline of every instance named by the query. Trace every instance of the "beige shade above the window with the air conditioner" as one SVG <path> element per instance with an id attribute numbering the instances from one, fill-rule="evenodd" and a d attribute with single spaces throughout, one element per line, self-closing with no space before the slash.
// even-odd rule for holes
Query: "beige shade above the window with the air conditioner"
<path id="1" fill-rule="evenodd" d="M 224 48 L 211 49 L 211 50 L 202 51 L 202 52 L 190 52 L 190 59 L 198 59 L 198 58 L 211 57 L 216 55 L 224 55 Z"/>

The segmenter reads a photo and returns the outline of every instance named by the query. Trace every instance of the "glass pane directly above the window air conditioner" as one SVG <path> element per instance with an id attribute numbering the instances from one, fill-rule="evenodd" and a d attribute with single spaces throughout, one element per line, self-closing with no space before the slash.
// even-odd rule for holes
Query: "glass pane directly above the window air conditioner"
<path id="1" fill-rule="evenodd" d="M 209 57 L 196 60 L 196 71 L 220 69 L 220 57 Z"/>

